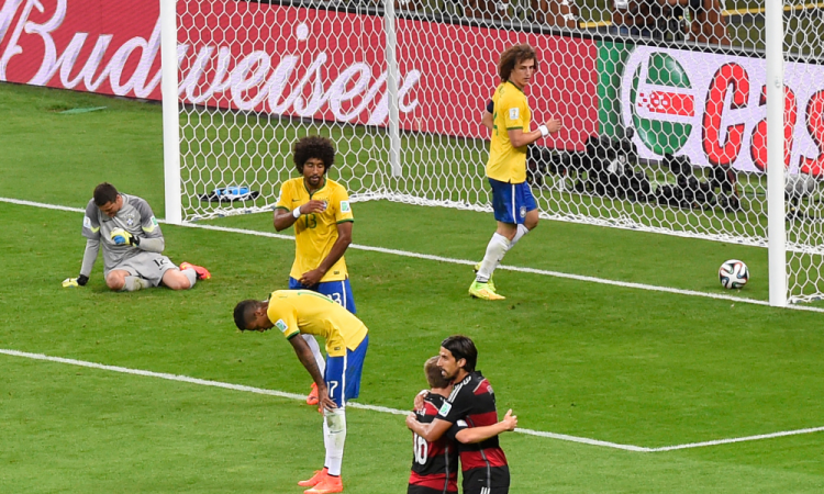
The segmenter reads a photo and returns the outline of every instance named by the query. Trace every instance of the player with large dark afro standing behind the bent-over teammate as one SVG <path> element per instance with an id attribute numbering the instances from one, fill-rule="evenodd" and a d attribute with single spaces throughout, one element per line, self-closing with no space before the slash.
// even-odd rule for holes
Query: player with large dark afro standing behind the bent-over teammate
<path id="1" fill-rule="evenodd" d="M 289 273 L 289 289 L 323 293 L 355 314 L 344 259 L 344 252 L 352 244 L 355 218 L 346 189 L 326 178 L 335 161 L 335 147 L 325 137 L 303 137 L 294 145 L 293 159 L 301 176 L 281 186 L 274 217 L 277 232 L 294 225 L 294 262 Z M 312 335 L 301 336 L 323 374 L 325 361 L 321 347 Z M 307 403 L 318 404 L 315 383 L 312 383 Z"/>

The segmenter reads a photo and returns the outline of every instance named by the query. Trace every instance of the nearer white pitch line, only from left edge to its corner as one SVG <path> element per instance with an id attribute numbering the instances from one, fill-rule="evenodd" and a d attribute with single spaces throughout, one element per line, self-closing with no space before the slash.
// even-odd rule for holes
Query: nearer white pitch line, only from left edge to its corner
<path id="1" fill-rule="evenodd" d="M 168 374 L 165 372 L 153 372 L 153 371 L 141 370 L 141 369 L 129 369 L 126 367 L 119 367 L 119 366 L 105 366 L 103 363 L 87 362 L 85 360 L 66 359 L 63 357 L 52 357 L 52 356 L 47 356 L 43 353 L 30 353 L 26 351 L 18 351 L 18 350 L 9 350 L 9 349 L 0 349 L 0 353 L 12 356 L 12 357 L 23 357 L 26 359 L 45 360 L 45 361 L 57 362 L 57 363 L 68 363 L 70 366 L 79 366 L 79 367 L 86 367 L 90 369 L 107 370 L 111 372 L 120 372 L 123 374 L 143 375 L 146 378 L 165 379 L 167 381 L 186 382 L 190 384 L 199 384 L 202 386 L 222 388 L 224 390 L 232 390 L 232 391 L 245 391 L 247 393 L 264 394 L 267 396 L 278 396 L 278 397 L 288 398 L 288 400 L 299 400 L 299 401 L 307 400 L 307 396 L 303 394 L 286 393 L 283 391 L 276 391 L 276 390 L 265 390 L 261 388 L 253 388 L 253 386 L 246 386 L 242 384 L 230 384 L 226 382 L 210 381 L 207 379 L 189 378 L 188 375 Z M 379 412 L 379 413 L 392 414 L 392 415 L 405 416 L 405 415 L 409 415 L 410 413 L 409 411 L 389 408 L 387 406 L 379 406 L 379 405 L 367 405 L 367 404 L 355 403 L 355 402 L 347 403 L 346 406 L 350 408 L 368 409 L 371 412 Z M 586 437 L 568 436 L 566 434 L 544 433 L 541 430 L 531 430 L 531 429 L 521 429 L 521 428 L 515 429 L 515 431 L 531 435 L 531 436 L 549 437 L 553 439 L 560 439 L 560 440 L 570 441 L 570 442 L 579 442 L 579 444 L 592 445 L 592 446 L 603 446 L 608 448 L 623 449 L 626 451 L 650 451 L 649 448 L 642 448 L 642 447 L 632 446 L 632 445 L 617 445 L 614 442 L 599 441 L 597 439 L 589 439 Z"/>

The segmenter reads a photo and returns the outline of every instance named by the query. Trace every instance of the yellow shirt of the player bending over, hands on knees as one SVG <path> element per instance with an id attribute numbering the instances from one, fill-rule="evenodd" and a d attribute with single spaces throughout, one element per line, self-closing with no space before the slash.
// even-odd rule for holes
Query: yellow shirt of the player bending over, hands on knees
<path id="1" fill-rule="evenodd" d="M 287 339 L 299 334 L 323 337 L 330 357 L 355 350 L 369 332 L 349 311 L 311 290 L 271 292 L 266 314 Z"/>

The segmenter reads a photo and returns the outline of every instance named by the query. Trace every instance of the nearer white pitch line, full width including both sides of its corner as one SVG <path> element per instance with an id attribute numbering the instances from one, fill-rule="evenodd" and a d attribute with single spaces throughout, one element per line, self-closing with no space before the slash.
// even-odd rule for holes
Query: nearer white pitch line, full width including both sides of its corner
<path id="1" fill-rule="evenodd" d="M 167 381 L 186 382 L 189 384 L 198 384 L 198 385 L 211 386 L 211 388 L 222 388 L 224 390 L 232 390 L 232 391 L 244 391 L 247 393 L 263 394 L 267 396 L 277 396 L 277 397 L 282 397 L 287 400 L 304 401 L 307 398 L 307 396 L 303 394 L 287 393 L 287 392 L 277 391 L 277 390 L 265 390 L 261 388 L 246 386 L 242 384 L 231 384 L 231 383 L 220 382 L 220 381 L 210 381 L 207 379 L 190 378 L 188 375 L 169 374 L 165 372 L 153 372 L 153 371 L 141 370 L 141 369 L 129 369 L 129 368 L 119 367 L 119 366 L 105 366 L 103 363 L 87 362 L 85 360 L 66 359 L 63 357 L 52 357 L 52 356 L 47 356 L 43 353 L 30 353 L 26 351 L 18 351 L 18 350 L 9 350 L 9 349 L 0 349 L 0 353 L 12 356 L 12 357 L 22 357 L 26 359 L 45 360 L 49 362 L 67 363 L 70 366 L 86 367 L 90 369 L 120 372 L 120 373 L 131 374 L 131 375 L 142 375 L 145 378 L 165 379 Z M 367 404 L 355 403 L 355 402 L 347 403 L 346 406 L 352 407 L 352 408 L 368 409 L 371 412 L 379 412 L 379 413 L 392 414 L 392 415 L 408 415 L 409 414 L 409 411 L 389 408 L 387 406 L 379 406 L 379 405 L 367 405 Z M 546 433 L 543 430 L 523 429 L 520 427 L 515 429 L 515 433 L 525 434 L 527 436 L 546 437 L 546 438 L 557 439 L 561 441 L 577 442 L 580 445 L 589 445 L 589 446 L 600 446 L 603 448 L 620 449 L 620 450 L 633 451 L 633 452 L 676 451 L 679 449 L 704 448 L 704 447 L 710 447 L 710 446 L 728 445 L 733 442 L 755 441 L 755 440 L 761 440 L 761 439 L 772 439 L 777 437 L 797 436 L 800 434 L 813 434 L 813 433 L 821 433 L 821 431 L 824 431 L 824 427 L 812 427 L 812 428 L 798 429 L 798 430 L 784 430 L 780 433 L 762 434 L 758 436 L 737 437 L 737 438 L 731 438 L 731 439 L 717 439 L 717 440 L 703 441 L 703 442 L 690 442 L 686 445 L 664 446 L 660 448 L 646 448 L 643 446 L 621 445 L 617 442 L 609 442 L 609 441 L 602 441 L 598 439 L 590 439 L 587 437 L 570 436 L 567 434 Z"/>

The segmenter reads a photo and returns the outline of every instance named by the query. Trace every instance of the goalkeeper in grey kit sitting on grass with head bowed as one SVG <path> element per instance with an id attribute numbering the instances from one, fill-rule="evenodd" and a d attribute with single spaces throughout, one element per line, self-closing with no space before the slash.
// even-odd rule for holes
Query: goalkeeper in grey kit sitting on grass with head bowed
<path id="1" fill-rule="evenodd" d="M 64 287 L 89 281 L 101 245 L 105 284 L 114 291 L 133 292 L 162 283 L 171 290 L 188 290 L 197 280 L 211 278 L 205 268 L 189 262 L 178 268 L 162 255 L 165 243 L 152 207 L 141 198 L 119 193 L 111 183 L 94 188 L 94 197 L 86 206 L 82 234 L 86 254 L 80 276 L 65 280 Z"/>

